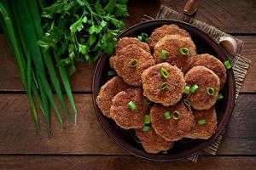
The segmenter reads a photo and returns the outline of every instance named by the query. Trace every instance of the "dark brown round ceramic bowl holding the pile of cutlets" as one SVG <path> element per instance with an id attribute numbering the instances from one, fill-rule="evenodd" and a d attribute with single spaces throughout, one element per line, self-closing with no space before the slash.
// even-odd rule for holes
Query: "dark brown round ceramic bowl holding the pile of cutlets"
<path id="1" fill-rule="evenodd" d="M 218 45 L 218 42 L 215 42 L 205 32 L 199 30 L 195 26 L 191 26 L 187 23 L 177 20 L 150 20 L 143 22 L 136 26 L 131 26 L 129 29 L 123 31 L 119 35 L 119 38 L 137 37 L 137 35 L 141 34 L 142 32 L 146 32 L 148 35 L 150 35 L 155 28 L 165 24 L 176 24 L 180 28 L 189 31 L 193 41 L 195 42 L 197 54 L 213 54 L 223 62 L 226 60 L 226 54 L 224 54 L 224 51 Z M 172 149 L 168 151 L 168 154 L 148 154 L 143 150 L 143 146 L 141 144 L 137 144 L 137 142 L 134 140 L 134 130 L 124 130 L 117 126 L 113 120 L 103 116 L 102 111 L 100 111 L 96 105 L 96 96 L 99 93 L 100 88 L 105 82 L 108 81 L 108 79 L 110 79 L 110 77 L 108 77 L 108 71 L 110 70 L 108 62 L 109 57 L 110 56 L 103 54 L 96 65 L 96 71 L 94 73 L 92 84 L 92 99 L 96 111 L 96 116 L 98 117 L 102 128 L 106 133 L 108 133 L 108 136 L 113 139 L 116 144 L 119 144 L 119 146 L 124 150 L 131 152 L 133 155 L 140 156 L 149 160 L 174 161 L 195 155 L 200 150 L 205 149 L 224 131 L 224 128 L 227 126 L 230 120 L 230 116 L 235 104 L 235 79 L 232 69 L 227 71 L 227 82 L 224 84 L 224 88 L 221 90 L 221 93 L 224 94 L 224 99 L 218 101 L 215 105 L 218 117 L 218 127 L 216 133 L 214 133 L 212 137 L 207 140 L 179 140 L 174 144 Z"/>

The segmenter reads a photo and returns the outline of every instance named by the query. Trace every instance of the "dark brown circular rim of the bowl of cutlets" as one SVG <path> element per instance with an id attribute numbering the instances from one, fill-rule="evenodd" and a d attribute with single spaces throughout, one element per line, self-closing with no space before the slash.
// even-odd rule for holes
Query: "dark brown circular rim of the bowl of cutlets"
<path id="1" fill-rule="evenodd" d="M 160 23 L 160 22 L 162 22 L 162 23 Z M 154 23 L 155 24 L 159 23 L 159 25 L 162 24 L 162 26 L 163 26 L 163 25 L 167 24 L 166 22 L 169 22 L 168 24 L 186 25 L 186 26 L 189 26 L 191 29 L 194 29 L 194 30 L 198 31 L 199 34 L 200 33 L 203 34 L 204 36 L 207 37 L 207 41 L 212 42 L 212 46 L 216 46 L 216 48 L 219 49 L 219 51 L 223 54 L 224 59 L 227 59 L 227 54 L 224 52 L 224 49 L 212 37 L 210 37 L 204 31 L 201 31 L 201 29 L 199 29 L 195 26 L 192 26 L 189 23 L 180 21 L 180 20 L 160 19 L 160 20 L 144 21 L 144 22 L 138 23 L 137 25 L 129 27 L 125 31 L 122 31 L 117 37 L 118 38 L 121 37 L 122 35 L 124 35 L 128 31 L 131 31 L 131 30 L 134 30 L 134 29 L 137 29 L 137 28 L 141 28 L 141 27 L 148 27 L 148 25 L 154 24 Z M 144 159 L 151 160 L 151 161 L 178 161 L 178 160 L 182 160 L 184 158 L 188 158 L 189 156 L 194 156 L 199 151 L 204 150 L 205 148 L 207 148 L 208 145 L 212 144 L 212 142 L 214 142 L 216 139 L 218 139 L 218 136 L 221 135 L 224 132 L 225 127 L 227 127 L 227 125 L 230 121 L 230 117 L 231 117 L 232 112 L 234 110 L 235 100 L 236 100 L 236 82 L 235 82 L 234 72 L 233 72 L 232 68 L 227 70 L 227 77 L 229 77 L 229 82 L 228 82 L 229 83 L 229 88 L 227 89 L 228 94 L 229 94 L 229 100 L 227 102 L 227 106 L 225 108 L 224 117 L 223 117 L 222 121 L 218 122 L 218 127 L 217 127 L 215 133 L 212 135 L 212 137 L 210 139 L 207 139 L 207 140 L 205 140 L 205 142 L 197 145 L 195 148 L 186 151 L 186 154 L 183 154 L 182 156 L 152 155 L 152 154 L 146 153 L 143 150 L 137 150 L 136 148 L 132 147 L 131 144 L 128 144 L 128 143 L 126 144 L 124 142 L 124 140 L 116 138 L 115 134 L 112 131 L 109 131 L 108 122 L 103 121 L 102 111 L 100 111 L 98 106 L 96 105 L 96 96 L 97 96 L 97 94 L 96 94 L 96 80 L 99 78 L 98 73 L 102 72 L 102 70 L 103 70 L 103 64 L 106 61 L 103 62 L 103 64 L 102 64 L 102 60 L 106 60 L 106 58 L 108 58 L 106 56 L 107 56 L 106 54 L 102 54 L 101 58 L 98 59 L 98 62 L 96 64 L 96 69 L 94 71 L 92 84 L 91 84 L 93 107 L 95 109 L 97 119 L 100 122 L 101 127 L 103 128 L 105 133 L 107 133 L 108 137 L 110 139 L 112 139 L 115 144 L 118 144 L 119 147 L 122 148 L 123 150 L 128 151 L 132 155 L 142 157 Z"/>

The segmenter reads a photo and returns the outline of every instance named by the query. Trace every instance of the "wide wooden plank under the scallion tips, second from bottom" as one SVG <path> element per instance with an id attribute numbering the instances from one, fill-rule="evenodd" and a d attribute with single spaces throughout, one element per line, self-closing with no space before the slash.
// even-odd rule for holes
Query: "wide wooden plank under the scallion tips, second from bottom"
<path id="1" fill-rule="evenodd" d="M 0 154 L 128 154 L 108 138 L 97 121 L 90 94 L 77 94 L 78 125 L 61 131 L 53 119 L 53 136 L 35 133 L 25 94 L 0 95 Z M 218 155 L 256 155 L 256 95 L 241 94 Z M 41 117 L 42 118 L 42 117 Z M 44 122 L 43 122 L 44 123 Z"/>

